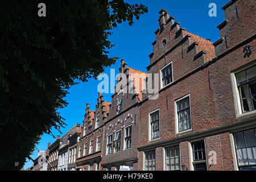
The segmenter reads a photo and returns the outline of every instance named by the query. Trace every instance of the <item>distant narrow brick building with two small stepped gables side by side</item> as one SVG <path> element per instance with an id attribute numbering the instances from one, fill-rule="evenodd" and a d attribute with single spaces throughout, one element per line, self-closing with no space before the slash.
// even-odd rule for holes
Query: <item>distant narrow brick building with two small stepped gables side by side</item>
<path id="1" fill-rule="evenodd" d="M 101 167 L 102 140 L 104 137 L 104 123 L 109 113 L 110 102 L 103 100 L 102 93 L 98 93 L 96 110 L 90 110 L 86 104 L 85 119 L 80 134 L 77 169 L 80 171 L 99 171 Z"/>

